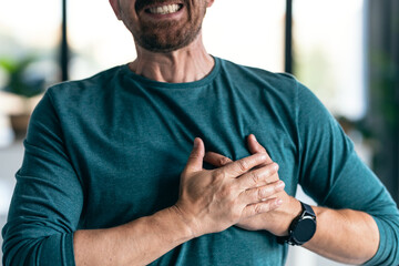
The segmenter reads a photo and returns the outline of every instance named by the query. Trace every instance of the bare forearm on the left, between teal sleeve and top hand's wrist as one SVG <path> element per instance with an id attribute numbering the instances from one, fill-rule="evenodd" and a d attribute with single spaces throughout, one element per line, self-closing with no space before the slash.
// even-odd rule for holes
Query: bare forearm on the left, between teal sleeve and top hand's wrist
<path id="1" fill-rule="evenodd" d="M 174 208 L 109 229 L 78 231 L 74 256 L 80 265 L 146 265 L 180 244 L 192 232 Z"/>

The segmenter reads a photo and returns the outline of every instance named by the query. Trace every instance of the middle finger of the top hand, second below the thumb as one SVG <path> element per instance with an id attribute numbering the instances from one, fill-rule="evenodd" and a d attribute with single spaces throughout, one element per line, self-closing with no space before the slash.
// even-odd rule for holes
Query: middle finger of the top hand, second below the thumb
<path id="1" fill-rule="evenodd" d="M 278 175 L 276 175 L 277 171 L 278 164 L 267 164 L 260 168 L 253 170 L 239 176 L 237 178 L 237 185 L 243 191 L 266 185 L 273 181 L 276 181 L 276 177 L 278 178 Z"/>

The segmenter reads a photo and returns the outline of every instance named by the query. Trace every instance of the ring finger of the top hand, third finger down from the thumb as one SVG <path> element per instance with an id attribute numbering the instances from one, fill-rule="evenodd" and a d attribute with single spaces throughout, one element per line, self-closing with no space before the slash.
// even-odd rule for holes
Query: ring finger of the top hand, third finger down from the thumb
<path id="1" fill-rule="evenodd" d="M 277 181 L 268 185 L 258 186 L 255 188 L 246 190 L 239 196 L 243 198 L 243 202 L 248 204 L 255 204 L 259 202 L 265 202 L 276 193 L 282 192 L 285 187 L 283 181 Z"/>

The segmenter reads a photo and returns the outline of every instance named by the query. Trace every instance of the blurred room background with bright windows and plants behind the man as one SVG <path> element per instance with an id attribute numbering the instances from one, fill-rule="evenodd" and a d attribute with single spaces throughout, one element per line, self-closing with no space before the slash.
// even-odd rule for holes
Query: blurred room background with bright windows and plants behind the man
<path id="1" fill-rule="evenodd" d="M 397 0 L 216 0 L 204 41 L 216 57 L 296 75 L 338 119 L 398 203 L 398 13 Z M 108 1 L 2 1 L 0 228 L 30 113 L 44 90 L 134 58 L 132 37 Z M 313 203 L 300 190 L 298 197 Z M 295 247 L 287 265 L 339 264 Z"/>

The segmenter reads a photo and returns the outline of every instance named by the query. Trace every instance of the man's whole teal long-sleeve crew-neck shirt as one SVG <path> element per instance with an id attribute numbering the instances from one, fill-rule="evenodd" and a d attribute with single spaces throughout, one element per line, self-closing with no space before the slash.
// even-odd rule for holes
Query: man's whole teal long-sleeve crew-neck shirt
<path id="1" fill-rule="evenodd" d="M 73 233 L 109 228 L 173 205 L 193 139 L 233 160 L 255 134 L 319 205 L 369 213 L 380 245 L 368 265 L 399 264 L 398 208 L 315 95 L 287 74 L 215 58 L 191 83 L 162 83 L 116 66 L 49 89 L 32 114 L 2 235 L 3 265 L 74 265 Z M 334 221 L 331 221 L 334 223 Z M 153 265 L 284 265 L 265 231 L 231 227 Z"/>

